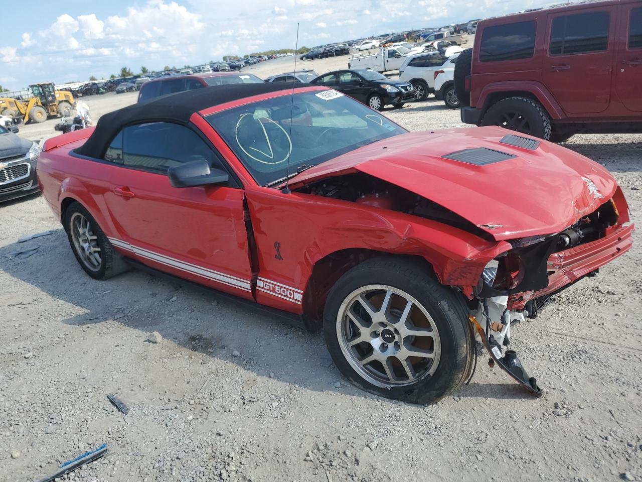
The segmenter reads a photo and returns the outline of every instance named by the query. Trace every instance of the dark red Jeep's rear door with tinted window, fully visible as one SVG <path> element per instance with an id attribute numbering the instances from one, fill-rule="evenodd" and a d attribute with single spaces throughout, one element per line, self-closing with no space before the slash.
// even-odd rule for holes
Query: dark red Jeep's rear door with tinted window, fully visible
<path id="1" fill-rule="evenodd" d="M 542 78 L 571 117 L 609 107 L 616 13 L 614 6 L 548 16 Z"/>

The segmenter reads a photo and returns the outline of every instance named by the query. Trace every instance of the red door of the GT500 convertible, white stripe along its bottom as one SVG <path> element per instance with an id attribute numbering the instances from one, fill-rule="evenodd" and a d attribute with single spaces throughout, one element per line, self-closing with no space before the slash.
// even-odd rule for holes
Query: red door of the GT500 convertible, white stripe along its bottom
<path id="1" fill-rule="evenodd" d="M 243 190 L 173 188 L 162 174 L 120 168 L 106 196 L 119 238 L 139 260 L 251 299 Z"/>

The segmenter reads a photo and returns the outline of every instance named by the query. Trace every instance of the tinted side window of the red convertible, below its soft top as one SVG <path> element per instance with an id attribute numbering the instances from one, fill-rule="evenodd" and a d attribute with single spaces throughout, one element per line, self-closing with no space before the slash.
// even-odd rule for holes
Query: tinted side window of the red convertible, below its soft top
<path id="1" fill-rule="evenodd" d="M 223 168 L 213 150 L 193 130 L 168 122 L 152 122 L 125 127 L 107 150 L 117 156 L 116 143 L 121 146 L 121 161 L 132 166 L 166 174 L 172 166 L 205 159 L 216 168 Z M 113 150 L 112 150 L 113 147 Z M 105 154 L 105 159 L 107 159 Z"/>

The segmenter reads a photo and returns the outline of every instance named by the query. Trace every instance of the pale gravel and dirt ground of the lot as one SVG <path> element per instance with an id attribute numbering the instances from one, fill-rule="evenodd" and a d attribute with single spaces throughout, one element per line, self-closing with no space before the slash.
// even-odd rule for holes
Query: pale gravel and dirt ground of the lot
<path id="1" fill-rule="evenodd" d="M 94 118 L 134 101 L 89 99 Z M 435 100 L 385 113 L 410 130 L 461 126 Z M 21 134 L 48 136 L 44 126 Z M 642 136 L 566 146 L 614 173 L 640 224 Z M 424 407 L 346 384 L 320 334 L 139 271 L 92 280 L 42 197 L 3 204 L 0 226 L 2 481 L 37 480 L 105 442 L 108 455 L 69 479 L 642 480 L 639 234 L 630 253 L 514 328 L 543 397 L 484 355 L 469 386 Z"/>

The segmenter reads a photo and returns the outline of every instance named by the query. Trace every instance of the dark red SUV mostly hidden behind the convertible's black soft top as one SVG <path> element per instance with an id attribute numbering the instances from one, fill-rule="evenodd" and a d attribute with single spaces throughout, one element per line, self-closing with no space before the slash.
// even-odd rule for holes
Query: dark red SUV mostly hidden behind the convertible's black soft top
<path id="1" fill-rule="evenodd" d="M 227 84 L 262 84 L 256 75 L 242 72 L 208 72 L 193 75 L 172 75 L 155 78 L 145 82 L 138 94 L 138 102 L 150 100 L 166 94 L 193 91 L 202 87 Z"/>

